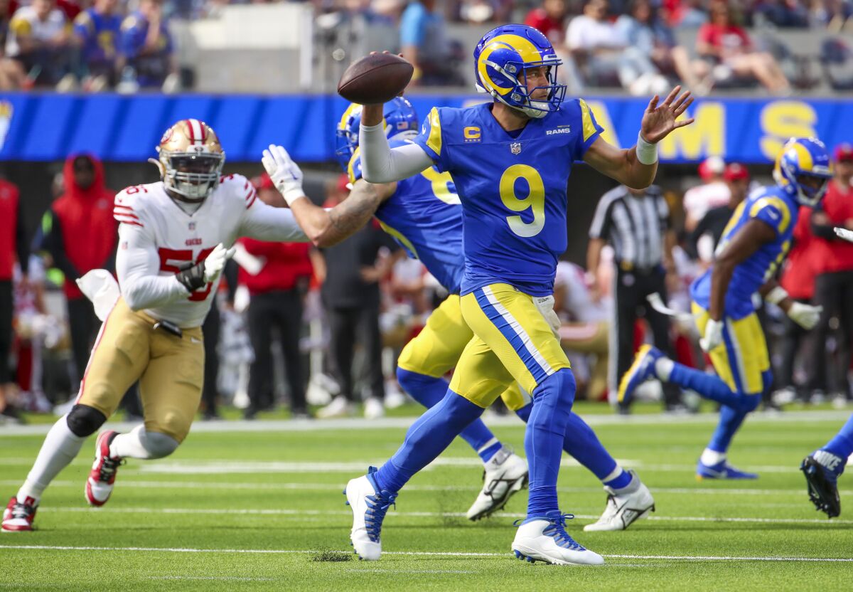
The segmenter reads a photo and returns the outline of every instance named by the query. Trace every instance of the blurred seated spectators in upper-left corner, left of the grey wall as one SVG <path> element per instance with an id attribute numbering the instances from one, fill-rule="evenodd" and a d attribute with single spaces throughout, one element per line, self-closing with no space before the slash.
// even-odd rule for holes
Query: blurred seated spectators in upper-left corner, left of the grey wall
<path id="1" fill-rule="evenodd" d="M 0 90 L 171 91 L 169 18 L 162 0 L 0 0 Z"/>

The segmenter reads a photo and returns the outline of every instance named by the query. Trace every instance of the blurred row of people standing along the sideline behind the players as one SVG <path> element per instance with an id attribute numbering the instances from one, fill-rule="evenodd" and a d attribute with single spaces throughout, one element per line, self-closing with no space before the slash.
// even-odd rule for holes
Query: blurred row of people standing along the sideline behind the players
<path id="1" fill-rule="evenodd" d="M 853 230 L 853 146 L 834 148 L 833 167 L 821 208 L 801 212 L 780 271 L 793 298 L 823 306 L 820 325 L 803 331 L 772 305 L 756 302 L 775 367 L 767 408 L 850 401 L 853 245 L 832 228 Z M 688 366 L 710 368 L 689 319 L 688 287 L 711 265 L 728 219 L 758 179 L 719 157 L 703 161 L 696 179 L 684 193 L 655 186 L 608 191 L 590 227 L 586 268 L 560 261 L 555 310 L 578 398 L 615 405 L 618 368 L 647 341 Z M 264 202 L 286 207 L 266 175 L 252 182 Z M 347 193 L 345 176 L 328 182 L 326 205 Z M 0 360 L 7 362 L 0 364 L 0 422 L 20 410 L 61 412 L 98 331 L 74 280 L 113 268 L 113 190 L 96 158 L 75 155 L 56 175 L 54 196 L 35 236 L 26 236 L 17 189 L 0 181 Z M 644 215 L 650 216 L 644 224 L 657 230 L 631 237 L 620 230 L 620 220 Z M 297 418 L 376 418 L 406 401 L 395 379 L 397 356 L 447 293 L 379 226 L 329 249 L 241 239 L 229 266 L 204 325 L 206 419 L 220 417 L 223 403 L 247 419 L 281 405 Z M 653 293 L 667 314 L 648 299 Z M 681 413 L 693 408 L 690 395 L 649 383 L 638 396 Z M 131 418 L 140 413 L 135 390 L 125 397 L 125 411 Z"/>

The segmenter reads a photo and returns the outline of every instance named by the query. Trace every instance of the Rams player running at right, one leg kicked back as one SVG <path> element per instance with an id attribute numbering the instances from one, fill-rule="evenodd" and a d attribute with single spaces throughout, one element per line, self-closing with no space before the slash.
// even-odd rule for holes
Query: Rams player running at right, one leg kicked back
<path id="1" fill-rule="evenodd" d="M 679 384 L 721 404 L 720 421 L 699 458 L 699 479 L 754 479 L 728 463 L 726 454 L 746 415 L 769 389 L 772 375 L 764 334 L 752 296 L 778 305 L 798 325 L 811 329 L 821 308 L 795 302 L 775 281 L 791 247 L 799 206 L 814 208 L 831 177 L 826 147 L 815 138 L 792 138 L 776 159 L 776 185 L 753 191 L 734 210 L 717 246 L 714 264 L 691 286 L 693 316 L 717 376 L 682 366 L 659 349 L 643 346 L 619 384 L 625 401 L 647 378 Z"/>

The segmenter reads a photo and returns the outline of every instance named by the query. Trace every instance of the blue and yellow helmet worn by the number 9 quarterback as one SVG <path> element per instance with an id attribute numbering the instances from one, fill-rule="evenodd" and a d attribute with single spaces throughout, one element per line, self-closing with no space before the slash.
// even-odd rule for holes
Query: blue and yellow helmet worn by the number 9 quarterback
<path id="1" fill-rule="evenodd" d="M 557 84 L 557 67 L 561 63 L 548 38 L 532 26 L 498 26 L 474 48 L 477 90 L 488 92 L 496 101 L 529 117 L 544 117 L 560 108 L 566 97 L 566 85 Z M 548 85 L 528 90 L 527 71 L 543 66 Z M 548 91 L 547 97 L 533 99 L 531 95 L 540 88 Z"/>

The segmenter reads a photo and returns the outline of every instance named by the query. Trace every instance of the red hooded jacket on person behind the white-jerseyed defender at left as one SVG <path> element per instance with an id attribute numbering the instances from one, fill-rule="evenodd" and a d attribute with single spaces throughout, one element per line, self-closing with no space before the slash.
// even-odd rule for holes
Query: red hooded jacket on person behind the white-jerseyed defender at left
<path id="1" fill-rule="evenodd" d="M 113 219 L 115 191 L 104 185 L 101 161 L 95 156 L 88 156 L 95 167 L 95 181 L 85 190 L 75 185 L 73 161 L 78 155 L 68 156 L 62 170 L 66 192 L 52 206 L 61 226 L 61 249 L 79 276 L 92 269 L 107 267 L 115 250 L 119 226 Z M 68 298 L 83 297 L 75 279 L 65 279 Z"/>

